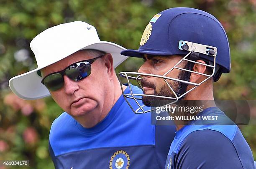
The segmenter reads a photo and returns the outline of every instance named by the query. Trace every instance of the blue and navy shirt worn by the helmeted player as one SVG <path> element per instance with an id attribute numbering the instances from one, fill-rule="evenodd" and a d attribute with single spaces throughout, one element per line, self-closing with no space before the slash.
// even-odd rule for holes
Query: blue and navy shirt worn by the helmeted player
<path id="1" fill-rule="evenodd" d="M 200 116 L 228 119 L 217 107 L 206 108 Z M 254 169 L 251 149 L 235 124 L 201 123 L 192 121 L 176 132 L 165 169 Z"/>

